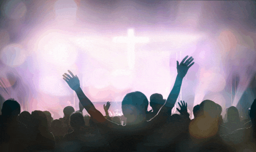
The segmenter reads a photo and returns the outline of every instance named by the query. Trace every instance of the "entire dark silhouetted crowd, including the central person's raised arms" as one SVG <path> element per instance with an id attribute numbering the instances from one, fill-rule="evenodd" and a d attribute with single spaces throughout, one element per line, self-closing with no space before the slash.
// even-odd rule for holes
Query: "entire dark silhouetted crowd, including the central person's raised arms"
<path id="1" fill-rule="evenodd" d="M 179 114 L 172 113 L 193 60 L 186 56 L 177 61 L 177 77 L 167 100 L 159 93 L 150 101 L 142 92 L 127 93 L 121 117 L 109 117 L 110 102 L 103 106 L 105 116 L 97 110 L 77 75 L 68 70 L 63 79 L 77 93 L 80 110 L 67 106 L 64 117 L 53 120 L 49 111 L 21 112 L 17 101 L 6 100 L 0 117 L 0 151 L 256 151 L 256 99 L 250 120 L 242 121 L 232 106 L 224 123 L 222 107 L 211 100 L 194 106 L 192 120 L 185 101 L 178 103 Z M 83 109 L 89 115 L 83 116 Z"/>

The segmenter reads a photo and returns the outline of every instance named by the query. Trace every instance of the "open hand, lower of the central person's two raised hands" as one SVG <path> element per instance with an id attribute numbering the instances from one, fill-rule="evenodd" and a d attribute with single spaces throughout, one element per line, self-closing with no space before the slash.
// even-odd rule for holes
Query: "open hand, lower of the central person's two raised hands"
<path id="1" fill-rule="evenodd" d="M 71 76 L 67 73 L 64 73 L 62 76 L 64 77 L 63 80 L 65 80 L 67 82 L 67 84 L 69 85 L 69 87 L 72 90 L 77 90 L 78 88 L 80 88 L 80 81 L 77 77 L 77 75 L 75 76 L 71 71 L 68 70 L 68 72 L 71 74 Z"/>

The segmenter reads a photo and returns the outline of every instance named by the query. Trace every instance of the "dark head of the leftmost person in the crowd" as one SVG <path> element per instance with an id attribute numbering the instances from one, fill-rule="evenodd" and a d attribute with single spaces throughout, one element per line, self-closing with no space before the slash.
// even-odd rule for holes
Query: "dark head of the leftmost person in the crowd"
<path id="1" fill-rule="evenodd" d="M 14 99 L 8 99 L 4 102 L 1 111 L 3 117 L 16 120 L 21 113 L 21 105 Z"/>

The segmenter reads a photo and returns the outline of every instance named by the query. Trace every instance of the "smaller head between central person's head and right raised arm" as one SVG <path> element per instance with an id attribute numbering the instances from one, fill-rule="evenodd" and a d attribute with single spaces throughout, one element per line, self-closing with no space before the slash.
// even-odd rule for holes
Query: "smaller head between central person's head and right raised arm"
<path id="1" fill-rule="evenodd" d="M 152 107 L 153 112 L 158 112 L 165 102 L 166 100 L 163 99 L 162 94 L 154 93 L 150 96 L 150 106 Z"/>

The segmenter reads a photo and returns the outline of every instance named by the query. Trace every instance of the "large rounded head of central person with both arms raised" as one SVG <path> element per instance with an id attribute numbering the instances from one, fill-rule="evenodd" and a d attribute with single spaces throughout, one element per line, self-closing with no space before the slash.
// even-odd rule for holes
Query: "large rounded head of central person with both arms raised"
<path id="1" fill-rule="evenodd" d="M 122 101 L 122 112 L 127 118 L 126 124 L 138 124 L 145 121 L 149 101 L 139 92 L 127 93 Z"/>

